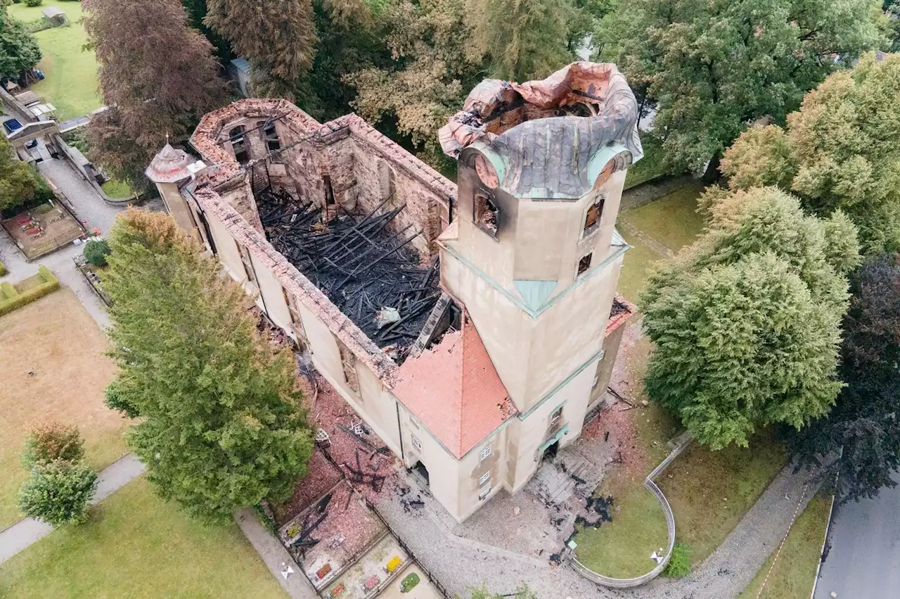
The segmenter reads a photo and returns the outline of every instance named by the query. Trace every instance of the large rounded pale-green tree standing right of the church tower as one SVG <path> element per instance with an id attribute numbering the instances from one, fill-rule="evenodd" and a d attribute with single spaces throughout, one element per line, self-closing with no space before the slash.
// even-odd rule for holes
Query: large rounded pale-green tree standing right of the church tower
<path id="1" fill-rule="evenodd" d="M 707 231 L 653 274 L 641 298 L 655 347 L 645 385 L 711 449 L 772 423 L 824 416 L 837 380 L 852 224 L 821 221 L 774 187 L 726 195 Z"/>

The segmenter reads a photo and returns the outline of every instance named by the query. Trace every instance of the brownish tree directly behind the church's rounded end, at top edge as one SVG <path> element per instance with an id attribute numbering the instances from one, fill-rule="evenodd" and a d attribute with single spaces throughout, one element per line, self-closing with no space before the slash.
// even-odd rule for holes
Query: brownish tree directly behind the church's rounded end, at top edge
<path id="1" fill-rule="evenodd" d="M 316 26 L 311 0 L 207 0 L 204 23 L 250 61 L 256 95 L 292 99 L 312 66 Z"/>

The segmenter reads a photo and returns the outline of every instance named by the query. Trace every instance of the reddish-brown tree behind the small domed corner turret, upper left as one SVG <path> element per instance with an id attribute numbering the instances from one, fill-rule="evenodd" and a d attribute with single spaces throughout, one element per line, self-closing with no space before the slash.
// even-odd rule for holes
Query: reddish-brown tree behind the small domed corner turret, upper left
<path id="1" fill-rule="evenodd" d="M 224 101 L 209 41 L 178 0 L 85 0 L 85 30 L 109 107 L 87 130 L 88 157 L 135 185 L 166 136 L 183 137 Z"/>

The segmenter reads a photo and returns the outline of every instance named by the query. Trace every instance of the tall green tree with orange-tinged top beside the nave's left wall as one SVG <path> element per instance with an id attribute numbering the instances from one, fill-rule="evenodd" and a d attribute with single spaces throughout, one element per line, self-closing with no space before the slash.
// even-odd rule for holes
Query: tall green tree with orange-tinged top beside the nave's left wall
<path id="1" fill-rule="evenodd" d="M 113 395 L 139 414 L 126 440 L 148 480 L 210 521 L 284 500 L 312 450 L 292 354 L 260 339 L 243 289 L 168 214 L 130 210 L 110 247 Z"/>

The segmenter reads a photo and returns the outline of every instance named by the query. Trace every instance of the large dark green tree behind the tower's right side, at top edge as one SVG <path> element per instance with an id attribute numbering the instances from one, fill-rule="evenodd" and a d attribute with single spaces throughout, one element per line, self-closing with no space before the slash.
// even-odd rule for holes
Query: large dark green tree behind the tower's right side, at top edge
<path id="1" fill-rule="evenodd" d="M 879 0 L 633 0 L 602 31 L 658 105 L 673 171 L 698 170 L 746 123 L 784 123 L 806 91 L 883 42 Z"/>

